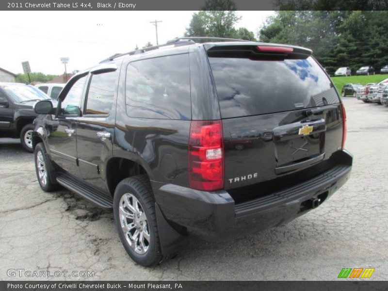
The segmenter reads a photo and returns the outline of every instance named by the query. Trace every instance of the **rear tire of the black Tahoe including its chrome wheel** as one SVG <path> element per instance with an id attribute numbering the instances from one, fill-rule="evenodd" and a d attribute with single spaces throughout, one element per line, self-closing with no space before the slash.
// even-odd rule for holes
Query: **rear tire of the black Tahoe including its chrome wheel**
<path id="1" fill-rule="evenodd" d="M 162 260 L 155 199 L 146 175 L 125 178 L 113 197 L 114 224 L 120 240 L 136 263 L 151 267 Z"/>

